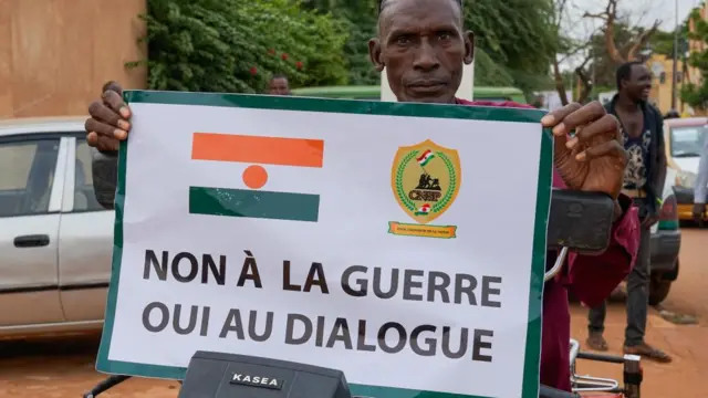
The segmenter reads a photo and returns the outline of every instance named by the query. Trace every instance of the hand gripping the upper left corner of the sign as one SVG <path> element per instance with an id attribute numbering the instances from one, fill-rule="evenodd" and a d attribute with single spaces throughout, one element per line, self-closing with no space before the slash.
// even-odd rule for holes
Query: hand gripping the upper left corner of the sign
<path id="1" fill-rule="evenodd" d="M 131 130 L 131 108 L 123 102 L 123 88 L 115 82 L 104 85 L 98 101 L 88 106 L 90 118 L 84 125 L 86 142 L 102 151 L 118 150 L 118 142 L 125 140 Z"/>

